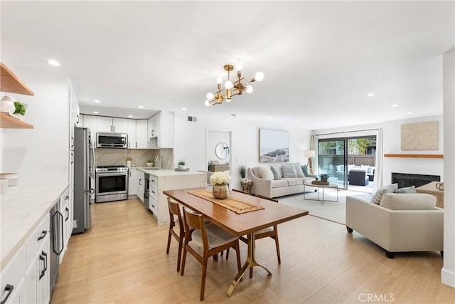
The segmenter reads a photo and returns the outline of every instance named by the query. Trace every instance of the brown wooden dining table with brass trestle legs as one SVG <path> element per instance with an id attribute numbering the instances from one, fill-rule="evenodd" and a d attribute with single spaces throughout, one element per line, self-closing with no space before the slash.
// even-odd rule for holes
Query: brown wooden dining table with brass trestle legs
<path id="1" fill-rule="evenodd" d="M 232 295 L 235 286 L 237 286 L 237 283 L 239 283 L 240 279 L 248 271 L 248 269 L 259 266 L 264 268 L 264 270 L 267 271 L 269 275 L 272 275 L 272 273 L 267 268 L 257 263 L 255 259 L 255 231 L 267 228 L 269 226 L 281 224 L 285 221 L 290 221 L 291 219 L 296 219 L 301 216 L 306 216 L 308 214 L 308 211 L 297 209 L 292 206 L 277 204 L 274 201 L 262 199 L 258 196 L 230 191 L 228 192 L 228 196 L 232 197 L 232 199 L 239 199 L 241 201 L 246 201 L 257 206 L 264 206 L 264 209 L 261 210 L 250 211 L 244 214 L 237 214 L 234 211 L 226 209 L 224 206 L 214 204 L 211 201 L 188 193 L 190 191 L 196 190 L 211 191 L 211 189 L 211 187 L 176 189 L 166 190 L 163 193 L 171 197 L 171 199 L 178 201 L 178 203 L 182 204 L 183 206 L 186 206 L 193 211 L 202 214 L 206 219 L 220 226 L 226 231 L 229 231 L 231 234 L 239 237 L 247 235 L 247 261 L 245 262 L 244 266 L 242 266 L 239 273 L 237 273 L 237 276 L 235 276 L 234 280 L 228 288 L 227 294 L 230 296 Z"/>

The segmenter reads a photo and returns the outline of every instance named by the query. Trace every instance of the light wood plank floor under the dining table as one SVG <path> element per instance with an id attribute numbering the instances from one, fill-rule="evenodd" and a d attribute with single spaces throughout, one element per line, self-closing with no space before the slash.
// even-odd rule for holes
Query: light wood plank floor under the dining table
<path id="1" fill-rule="evenodd" d="M 231 297 L 235 256 L 211 260 L 205 303 L 454 303 L 455 289 L 440 283 L 437 252 L 401 253 L 390 260 L 375 244 L 331 221 L 304 216 L 279 226 L 282 264 L 274 241 L 257 241 L 255 268 Z M 70 239 L 60 265 L 55 303 L 199 303 L 201 267 L 188 255 L 176 272 L 176 241 L 166 255 L 168 226 L 138 199 L 92 205 L 92 229 Z M 241 243 L 242 263 L 246 245 Z"/>

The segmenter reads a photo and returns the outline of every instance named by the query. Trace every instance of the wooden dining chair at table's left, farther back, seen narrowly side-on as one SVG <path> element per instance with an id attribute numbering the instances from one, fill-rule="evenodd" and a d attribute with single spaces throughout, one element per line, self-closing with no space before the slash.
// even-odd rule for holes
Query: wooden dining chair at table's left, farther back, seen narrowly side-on
<path id="1" fill-rule="evenodd" d="M 171 201 L 168 197 L 168 209 L 169 209 L 169 231 L 168 231 L 168 246 L 166 248 L 166 254 L 169 254 L 169 247 L 171 246 L 171 237 L 178 242 L 178 256 L 177 256 L 177 271 L 180 271 L 181 257 L 183 241 L 185 239 L 185 229 L 183 225 L 183 219 L 180 212 L 180 206 L 176 201 Z M 176 231 L 178 229 L 178 231 Z"/>

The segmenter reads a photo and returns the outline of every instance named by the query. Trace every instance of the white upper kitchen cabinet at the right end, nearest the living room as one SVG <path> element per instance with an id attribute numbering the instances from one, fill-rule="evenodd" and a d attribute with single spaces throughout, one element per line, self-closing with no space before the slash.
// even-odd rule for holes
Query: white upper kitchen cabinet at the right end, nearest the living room
<path id="1" fill-rule="evenodd" d="M 149 148 L 173 148 L 174 112 L 161 111 L 148 120 Z"/>

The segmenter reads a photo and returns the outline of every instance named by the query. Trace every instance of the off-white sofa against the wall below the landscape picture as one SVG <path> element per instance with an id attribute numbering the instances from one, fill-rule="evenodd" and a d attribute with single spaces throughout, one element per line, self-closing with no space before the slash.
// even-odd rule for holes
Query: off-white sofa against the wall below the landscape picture
<path id="1" fill-rule="evenodd" d="M 263 165 L 259 167 L 266 166 L 267 165 Z M 280 165 L 274 164 L 274 166 L 279 167 Z M 282 171 L 280 172 L 281 176 L 278 180 L 273 177 L 262 177 L 257 168 L 258 167 L 248 168 L 248 177 L 252 181 L 251 192 L 252 194 L 259 194 L 270 198 L 304 192 L 304 182 L 315 180 L 314 177 L 284 178 Z M 310 187 L 310 189 L 311 191 L 314 191 L 313 188 Z"/>

